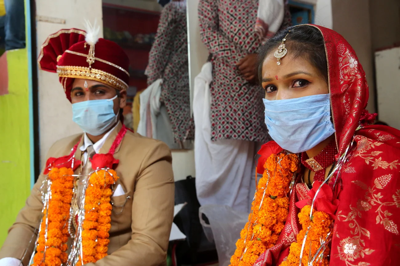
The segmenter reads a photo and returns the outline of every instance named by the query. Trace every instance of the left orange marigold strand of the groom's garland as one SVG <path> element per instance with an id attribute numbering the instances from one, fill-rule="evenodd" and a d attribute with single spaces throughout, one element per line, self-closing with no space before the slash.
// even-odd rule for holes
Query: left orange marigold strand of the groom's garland
<path id="1" fill-rule="evenodd" d="M 44 209 L 33 266 L 60 266 L 67 262 L 66 243 L 69 235 L 67 224 L 72 199 L 73 174 L 74 171 L 67 167 L 53 167 L 48 173 L 52 193 L 48 207 Z"/>

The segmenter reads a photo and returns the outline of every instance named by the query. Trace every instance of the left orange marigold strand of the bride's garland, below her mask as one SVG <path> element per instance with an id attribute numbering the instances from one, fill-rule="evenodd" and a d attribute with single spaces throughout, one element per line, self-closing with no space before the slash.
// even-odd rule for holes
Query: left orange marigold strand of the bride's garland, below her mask
<path id="1" fill-rule="evenodd" d="M 289 208 L 289 186 L 299 166 L 296 154 L 272 154 L 264 164 L 249 222 L 240 232 L 230 266 L 252 266 L 275 245 L 284 228 Z"/>

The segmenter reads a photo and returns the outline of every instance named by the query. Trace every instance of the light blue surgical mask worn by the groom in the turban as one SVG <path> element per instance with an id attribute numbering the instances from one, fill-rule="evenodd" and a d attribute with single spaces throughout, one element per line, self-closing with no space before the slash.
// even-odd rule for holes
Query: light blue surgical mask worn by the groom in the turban
<path id="1" fill-rule="evenodd" d="M 86 133 L 98 136 L 109 130 L 117 121 L 112 99 L 86 100 L 72 104 L 72 120 Z M 119 113 L 119 112 L 118 112 Z"/>

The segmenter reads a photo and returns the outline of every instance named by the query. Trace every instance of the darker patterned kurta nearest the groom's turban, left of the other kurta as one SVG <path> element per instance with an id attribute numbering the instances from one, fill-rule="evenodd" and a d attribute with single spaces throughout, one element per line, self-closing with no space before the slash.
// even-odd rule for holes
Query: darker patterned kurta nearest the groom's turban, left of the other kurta
<path id="1" fill-rule="evenodd" d="M 145 74 L 147 84 L 162 79 L 160 100 L 166 106 L 175 142 L 192 140 L 186 0 L 172 1 L 161 12 Z"/>

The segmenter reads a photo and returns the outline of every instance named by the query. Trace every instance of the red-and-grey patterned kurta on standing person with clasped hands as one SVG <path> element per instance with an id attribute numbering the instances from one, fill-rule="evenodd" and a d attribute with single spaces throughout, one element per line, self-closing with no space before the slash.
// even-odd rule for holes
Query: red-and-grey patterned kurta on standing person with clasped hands
<path id="1" fill-rule="evenodd" d="M 200 0 L 200 35 L 212 54 L 212 140 L 264 142 L 263 91 L 240 75 L 236 63 L 261 47 L 256 33 L 258 0 Z M 284 21 L 290 13 L 285 13 Z"/>

